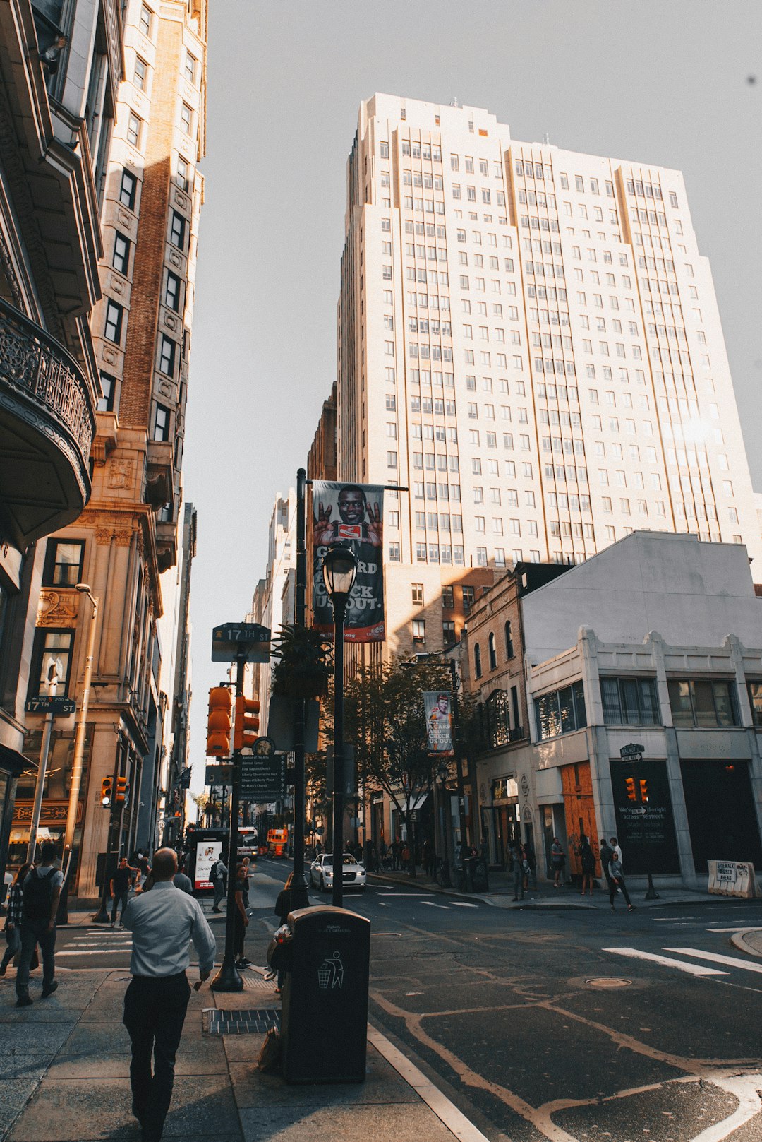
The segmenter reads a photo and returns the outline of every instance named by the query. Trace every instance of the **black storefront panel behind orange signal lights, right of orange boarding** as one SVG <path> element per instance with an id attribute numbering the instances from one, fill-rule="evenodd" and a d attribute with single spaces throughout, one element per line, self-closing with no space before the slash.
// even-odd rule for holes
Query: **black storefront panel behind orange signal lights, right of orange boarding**
<path id="1" fill-rule="evenodd" d="M 679 872 L 666 762 L 613 757 L 609 764 L 625 877 Z"/>

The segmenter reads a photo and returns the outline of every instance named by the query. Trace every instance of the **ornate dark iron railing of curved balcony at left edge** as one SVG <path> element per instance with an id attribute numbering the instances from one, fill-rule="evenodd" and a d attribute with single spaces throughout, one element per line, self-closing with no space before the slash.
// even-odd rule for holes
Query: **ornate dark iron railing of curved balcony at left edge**
<path id="1" fill-rule="evenodd" d="M 32 399 L 63 426 L 87 467 L 96 419 L 76 361 L 57 341 L 0 298 L 0 385 Z"/>

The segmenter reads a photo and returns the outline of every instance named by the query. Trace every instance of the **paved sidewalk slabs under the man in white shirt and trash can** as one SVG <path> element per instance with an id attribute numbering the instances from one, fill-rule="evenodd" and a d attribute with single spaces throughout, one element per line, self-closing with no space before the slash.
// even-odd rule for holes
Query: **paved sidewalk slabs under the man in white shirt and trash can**
<path id="1" fill-rule="evenodd" d="M 305 1125 L 321 1142 L 453 1142 L 455 1131 L 461 1139 L 484 1139 L 371 1028 L 365 1083 L 289 1086 L 277 1075 L 260 1073 L 261 1024 L 238 1035 L 209 1029 L 210 1010 L 257 1010 L 265 1016 L 279 1011 L 279 997 L 262 973 L 246 971 L 237 994 L 213 992 L 208 984 L 192 994 L 167 1142 L 303 1142 Z M 130 1113 L 130 1043 L 121 1022 L 130 975 L 123 968 L 58 966 L 57 978 L 58 990 L 44 1000 L 33 982 L 34 1004 L 21 1010 L 14 1006 L 14 974 L 0 980 L 0 1140 L 138 1140 Z"/>

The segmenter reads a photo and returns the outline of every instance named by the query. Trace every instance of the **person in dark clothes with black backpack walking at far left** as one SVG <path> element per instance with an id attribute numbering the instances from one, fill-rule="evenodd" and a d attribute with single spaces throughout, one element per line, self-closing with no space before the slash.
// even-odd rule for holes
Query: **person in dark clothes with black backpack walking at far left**
<path id="1" fill-rule="evenodd" d="M 30 965 L 38 943 L 42 952 L 42 998 L 58 987 L 56 975 L 56 911 L 64 883 L 63 872 L 56 868 L 56 846 L 46 841 L 41 849 L 41 863 L 24 877 L 22 887 L 22 958 L 16 973 L 16 1006 L 29 1007 Z"/>

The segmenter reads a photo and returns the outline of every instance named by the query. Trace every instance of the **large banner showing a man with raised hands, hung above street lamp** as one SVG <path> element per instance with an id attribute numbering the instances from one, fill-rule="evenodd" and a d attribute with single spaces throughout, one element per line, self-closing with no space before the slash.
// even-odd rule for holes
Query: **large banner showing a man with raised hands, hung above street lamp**
<path id="1" fill-rule="evenodd" d="M 333 608 L 323 582 L 323 556 L 332 544 L 344 544 L 357 556 L 344 642 L 383 642 L 382 486 L 313 482 L 314 625 L 326 634 L 333 630 Z"/>

